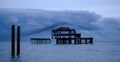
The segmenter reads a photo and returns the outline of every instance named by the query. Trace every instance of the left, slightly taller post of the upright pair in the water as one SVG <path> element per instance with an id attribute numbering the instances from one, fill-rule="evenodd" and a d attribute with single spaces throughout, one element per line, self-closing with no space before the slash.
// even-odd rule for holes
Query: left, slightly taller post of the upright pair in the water
<path id="1" fill-rule="evenodd" d="M 15 57 L 15 25 L 12 25 L 11 32 L 11 56 Z"/>

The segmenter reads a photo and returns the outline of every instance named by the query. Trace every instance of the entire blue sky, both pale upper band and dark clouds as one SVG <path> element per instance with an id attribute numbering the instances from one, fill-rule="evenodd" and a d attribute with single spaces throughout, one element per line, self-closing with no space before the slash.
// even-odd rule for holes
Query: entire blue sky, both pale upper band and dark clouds
<path id="1" fill-rule="evenodd" d="M 46 26 L 55 27 L 61 23 L 60 26 L 66 24 L 75 27 L 75 29 L 79 28 L 78 31 L 84 33 L 85 36 L 92 33 L 92 36 L 96 37 L 96 39 L 119 41 L 119 2 L 120 0 L 0 0 L 0 8 L 18 8 L 17 10 L 0 9 L 0 40 L 10 38 L 6 36 L 6 33 L 10 34 L 8 28 L 11 24 L 21 24 L 25 28 L 24 35 L 31 35 L 31 33 L 35 35 L 35 33 L 48 29 Z M 36 12 L 34 10 L 23 11 L 22 9 L 54 11 Z M 58 12 L 55 10 L 58 10 Z M 60 10 L 74 11 L 64 13 L 64 11 L 59 12 Z M 41 31 L 39 31 L 40 29 Z"/>

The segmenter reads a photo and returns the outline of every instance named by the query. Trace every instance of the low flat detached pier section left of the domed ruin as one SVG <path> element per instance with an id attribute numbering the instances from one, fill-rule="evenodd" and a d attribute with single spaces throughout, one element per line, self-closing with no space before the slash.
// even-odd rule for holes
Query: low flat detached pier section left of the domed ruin
<path id="1" fill-rule="evenodd" d="M 30 38 L 31 44 L 50 44 L 50 38 Z"/>

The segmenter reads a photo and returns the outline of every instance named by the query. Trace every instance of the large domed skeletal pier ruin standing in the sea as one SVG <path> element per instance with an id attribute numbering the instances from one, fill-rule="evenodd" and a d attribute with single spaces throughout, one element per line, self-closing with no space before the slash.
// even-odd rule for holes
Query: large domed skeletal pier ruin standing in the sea
<path id="1" fill-rule="evenodd" d="M 76 33 L 75 29 L 60 27 L 52 30 L 52 38 L 56 39 L 56 44 L 93 44 L 93 38 L 81 38 L 81 33 Z"/>

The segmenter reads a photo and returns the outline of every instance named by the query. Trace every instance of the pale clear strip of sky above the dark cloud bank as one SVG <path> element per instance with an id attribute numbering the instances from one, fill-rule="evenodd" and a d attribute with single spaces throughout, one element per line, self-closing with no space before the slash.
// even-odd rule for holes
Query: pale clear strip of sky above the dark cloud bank
<path id="1" fill-rule="evenodd" d="M 86 10 L 120 18 L 120 0 L 0 0 L 0 8 Z"/>

